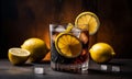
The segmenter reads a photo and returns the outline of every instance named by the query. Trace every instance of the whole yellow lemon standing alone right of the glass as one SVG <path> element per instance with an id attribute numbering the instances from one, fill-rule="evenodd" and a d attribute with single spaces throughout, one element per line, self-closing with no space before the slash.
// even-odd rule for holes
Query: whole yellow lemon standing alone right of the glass
<path id="1" fill-rule="evenodd" d="M 97 43 L 89 52 L 96 63 L 107 63 L 116 55 L 113 48 L 107 43 Z"/>

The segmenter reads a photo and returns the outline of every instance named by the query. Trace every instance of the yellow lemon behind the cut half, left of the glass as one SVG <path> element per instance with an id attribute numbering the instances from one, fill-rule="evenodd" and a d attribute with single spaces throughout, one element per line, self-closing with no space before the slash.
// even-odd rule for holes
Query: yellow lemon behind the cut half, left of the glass
<path id="1" fill-rule="evenodd" d="M 31 53 L 29 61 L 38 63 L 48 53 L 48 48 L 43 40 L 29 38 L 21 45 L 22 48 L 28 49 Z"/>

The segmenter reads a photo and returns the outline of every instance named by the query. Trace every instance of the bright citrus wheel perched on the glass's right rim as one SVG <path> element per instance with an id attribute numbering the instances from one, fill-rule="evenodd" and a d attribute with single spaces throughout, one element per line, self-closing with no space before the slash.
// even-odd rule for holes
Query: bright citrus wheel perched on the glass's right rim
<path id="1" fill-rule="evenodd" d="M 85 25 L 88 25 L 89 35 L 94 35 L 100 25 L 98 16 L 92 12 L 82 12 L 76 20 L 75 25 L 79 29 L 86 29 Z"/>

